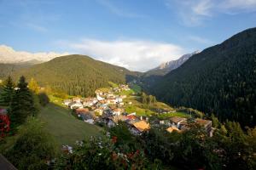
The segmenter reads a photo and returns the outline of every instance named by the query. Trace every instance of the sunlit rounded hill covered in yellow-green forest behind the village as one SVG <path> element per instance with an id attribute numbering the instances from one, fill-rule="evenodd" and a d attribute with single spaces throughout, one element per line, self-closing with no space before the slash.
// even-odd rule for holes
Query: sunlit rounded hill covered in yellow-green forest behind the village
<path id="1" fill-rule="evenodd" d="M 15 71 L 15 79 L 24 75 L 35 78 L 45 87 L 49 85 L 71 95 L 90 96 L 96 88 L 108 86 L 108 82 L 125 82 L 136 72 L 91 59 L 85 55 L 67 55 L 39 65 Z"/>

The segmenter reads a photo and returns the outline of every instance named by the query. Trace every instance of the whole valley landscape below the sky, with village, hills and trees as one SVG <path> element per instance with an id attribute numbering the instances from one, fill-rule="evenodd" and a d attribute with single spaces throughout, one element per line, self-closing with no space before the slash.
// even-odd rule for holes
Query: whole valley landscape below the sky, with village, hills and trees
<path id="1" fill-rule="evenodd" d="M 85 169 L 250 169 L 255 35 L 242 31 L 146 72 L 78 54 L 1 64 L 0 150 L 16 163 L 20 144 L 42 147 L 49 163 L 40 165 L 55 169 L 82 161 Z"/>

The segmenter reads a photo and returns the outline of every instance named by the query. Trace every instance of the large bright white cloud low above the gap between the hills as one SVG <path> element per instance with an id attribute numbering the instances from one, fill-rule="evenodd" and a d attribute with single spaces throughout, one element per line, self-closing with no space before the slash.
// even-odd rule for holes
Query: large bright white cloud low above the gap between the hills
<path id="1" fill-rule="evenodd" d="M 131 71 L 148 71 L 162 62 L 177 59 L 185 50 L 175 44 L 142 40 L 101 41 L 84 39 L 81 42 L 58 42 L 79 54 L 87 54 Z"/>

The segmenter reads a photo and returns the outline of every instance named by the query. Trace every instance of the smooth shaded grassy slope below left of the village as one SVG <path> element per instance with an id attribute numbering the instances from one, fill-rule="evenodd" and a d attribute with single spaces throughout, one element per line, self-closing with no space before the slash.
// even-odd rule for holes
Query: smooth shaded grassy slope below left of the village
<path id="1" fill-rule="evenodd" d="M 59 144 L 73 145 L 76 140 L 89 139 L 102 131 L 101 127 L 82 122 L 66 108 L 52 103 L 42 108 L 38 117 Z"/>

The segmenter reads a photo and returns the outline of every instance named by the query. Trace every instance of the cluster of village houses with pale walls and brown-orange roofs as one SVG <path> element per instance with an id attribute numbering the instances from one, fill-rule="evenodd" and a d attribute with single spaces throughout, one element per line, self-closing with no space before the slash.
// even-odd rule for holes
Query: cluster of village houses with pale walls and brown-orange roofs
<path id="1" fill-rule="evenodd" d="M 63 100 L 63 105 L 73 111 L 73 115 L 86 123 L 102 123 L 107 127 L 114 127 L 119 122 L 125 122 L 133 135 L 140 135 L 148 131 L 150 127 L 166 127 L 166 131 L 181 133 L 189 130 L 188 118 L 182 116 L 170 116 L 166 119 L 151 120 L 150 116 L 137 115 L 137 112 L 127 113 L 125 106 L 133 105 L 125 95 L 125 91 L 130 91 L 128 85 L 119 85 L 115 88 L 108 88 L 104 92 L 96 90 L 96 97 Z M 126 93 L 128 94 L 128 93 Z M 135 94 L 134 94 L 135 95 Z M 175 111 L 159 111 L 157 114 Z M 201 118 L 194 118 L 193 121 L 205 128 L 207 134 L 212 136 L 212 121 Z"/>

